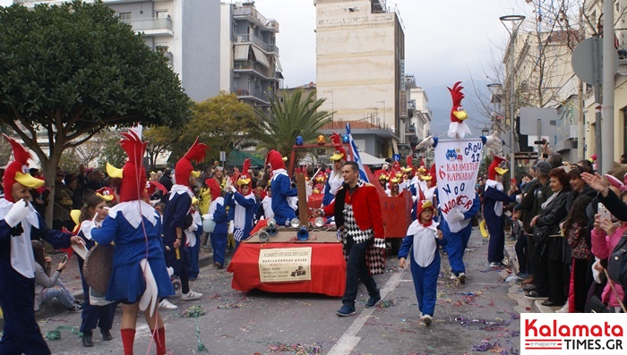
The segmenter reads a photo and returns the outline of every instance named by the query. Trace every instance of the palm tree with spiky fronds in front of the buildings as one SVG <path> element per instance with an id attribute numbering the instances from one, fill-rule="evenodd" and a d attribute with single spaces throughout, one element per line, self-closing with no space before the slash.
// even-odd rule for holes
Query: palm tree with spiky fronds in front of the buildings
<path id="1" fill-rule="evenodd" d="M 304 99 L 302 96 L 303 90 L 298 89 L 279 102 L 279 97 L 271 93 L 270 112 L 259 106 L 253 108 L 253 134 L 260 142 L 258 148 L 276 149 L 288 156 L 297 136 L 303 137 L 305 143 L 318 137 L 320 128 L 331 121 L 331 112 L 318 111 L 324 98 L 314 99 L 314 91 Z"/>

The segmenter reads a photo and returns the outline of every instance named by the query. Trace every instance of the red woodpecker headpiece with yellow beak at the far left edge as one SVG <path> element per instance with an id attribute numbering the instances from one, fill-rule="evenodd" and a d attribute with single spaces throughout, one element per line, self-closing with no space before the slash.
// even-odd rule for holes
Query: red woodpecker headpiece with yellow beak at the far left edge
<path id="1" fill-rule="evenodd" d="M 18 143 L 17 140 L 3 133 L 4 139 L 11 143 L 13 150 L 13 162 L 6 166 L 4 170 L 4 199 L 15 202 L 13 199 L 13 183 L 20 182 L 22 185 L 30 189 L 39 189 L 44 185 L 43 180 L 32 177 L 29 173 L 29 159 L 32 157 L 30 153 Z"/>

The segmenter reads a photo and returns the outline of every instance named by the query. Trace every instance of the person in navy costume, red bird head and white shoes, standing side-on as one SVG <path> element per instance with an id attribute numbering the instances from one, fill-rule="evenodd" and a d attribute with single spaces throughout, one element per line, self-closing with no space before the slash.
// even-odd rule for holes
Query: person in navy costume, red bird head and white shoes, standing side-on
<path id="1" fill-rule="evenodd" d="M 174 275 L 181 280 L 181 300 L 198 300 L 202 293 L 193 292 L 189 288 L 191 273 L 190 251 L 187 248 L 185 229 L 193 224 L 191 215 L 193 190 L 192 186 L 200 172 L 193 171 L 192 160 L 202 163 L 207 147 L 198 143 L 198 139 L 185 156 L 180 158 L 175 166 L 176 184 L 170 190 L 166 212 L 163 214 L 163 244 L 166 247 L 166 264 L 174 269 Z"/>

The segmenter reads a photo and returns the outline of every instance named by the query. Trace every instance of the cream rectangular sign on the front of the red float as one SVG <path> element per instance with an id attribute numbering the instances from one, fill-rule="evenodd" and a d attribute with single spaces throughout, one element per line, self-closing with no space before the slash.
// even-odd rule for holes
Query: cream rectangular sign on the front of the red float
<path id="1" fill-rule="evenodd" d="M 312 280 L 312 248 L 262 249 L 259 253 L 262 283 Z"/>

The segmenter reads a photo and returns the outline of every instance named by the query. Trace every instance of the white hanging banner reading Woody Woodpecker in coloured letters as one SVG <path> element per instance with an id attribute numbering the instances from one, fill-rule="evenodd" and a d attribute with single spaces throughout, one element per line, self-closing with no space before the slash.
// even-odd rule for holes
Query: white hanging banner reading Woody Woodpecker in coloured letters
<path id="1" fill-rule="evenodd" d="M 451 211 L 467 212 L 477 194 L 475 184 L 482 148 L 481 139 L 440 140 L 435 147 L 438 201 L 451 232 L 459 232 L 465 226 L 451 222 Z"/>

